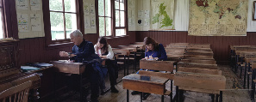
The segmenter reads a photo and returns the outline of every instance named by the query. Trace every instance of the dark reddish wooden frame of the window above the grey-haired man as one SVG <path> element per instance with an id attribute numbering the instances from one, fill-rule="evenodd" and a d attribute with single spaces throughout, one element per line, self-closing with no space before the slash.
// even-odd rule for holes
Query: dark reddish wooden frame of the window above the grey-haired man
<path id="1" fill-rule="evenodd" d="M 62 1 L 62 11 L 59 11 L 59 10 L 51 10 L 50 8 L 49 8 L 49 13 L 50 13 L 50 16 L 51 16 L 51 12 L 55 12 L 55 13 L 62 13 L 62 15 L 63 15 L 63 24 L 64 24 L 64 39 L 57 39 L 57 40 L 53 40 L 52 39 L 52 33 L 51 33 L 51 31 L 52 31 L 52 28 L 50 27 L 50 36 L 51 36 L 51 40 L 52 40 L 52 42 L 53 43 L 55 43 L 55 44 L 58 44 L 58 43 L 66 43 L 66 42 L 70 42 L 70 39 L 66 39 L 66 16 L 65 16 L 65 14 L 76 14 L 77 15 L 77 27 L 78 27 L 78 0 L 74 0 L 75 1 L 75 12 L 66 12 L 65 11 L 65 1 L 64 0 L 61 0 Z M 49 3 L 50 4 L 50 3 Z M 50 18 L 51 19 L 51 18 Z M 51 26 L 51 25 L 50 25 Z"/>

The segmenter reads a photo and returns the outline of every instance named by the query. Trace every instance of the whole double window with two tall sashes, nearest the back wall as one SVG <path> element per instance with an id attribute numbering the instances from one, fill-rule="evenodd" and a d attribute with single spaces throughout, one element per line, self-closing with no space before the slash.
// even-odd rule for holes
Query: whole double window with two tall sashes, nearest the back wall
<path id="1" fill-rule="evenodd" d="M 112 2 L 115 4 L 111 5 Z M 124 0 L 98 0 L 99 36 L 114 36 L 112 33 L 116 33 L 116 36 L 126 35 L 124 5 Z"/>

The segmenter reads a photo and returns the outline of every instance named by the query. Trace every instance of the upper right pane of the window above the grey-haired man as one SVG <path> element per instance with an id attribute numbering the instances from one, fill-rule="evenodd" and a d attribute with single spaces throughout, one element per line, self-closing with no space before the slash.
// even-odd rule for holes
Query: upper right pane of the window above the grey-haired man
<path id="1" fill-rule="evenodd" d="M 75 0 L 64 0 L 66 12 L 76 12 L 76 1 Z"/>

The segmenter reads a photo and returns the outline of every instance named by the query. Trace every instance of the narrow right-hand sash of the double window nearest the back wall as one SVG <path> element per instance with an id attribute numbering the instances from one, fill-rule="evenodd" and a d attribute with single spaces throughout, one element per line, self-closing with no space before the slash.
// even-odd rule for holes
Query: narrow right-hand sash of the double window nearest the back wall
<path id="1" fill-rule="evenodd" d="M 116 36 L 126 35 L 124 0 L 115 0 Z"/>

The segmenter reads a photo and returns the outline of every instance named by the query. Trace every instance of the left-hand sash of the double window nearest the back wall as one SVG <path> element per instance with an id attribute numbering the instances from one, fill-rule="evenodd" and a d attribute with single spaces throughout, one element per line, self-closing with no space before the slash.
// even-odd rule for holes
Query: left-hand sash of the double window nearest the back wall
<path id="1" fill-rule="evenodd" d="M 111 1 L 98 0 L 99 35 L 111 36 Z"/>

